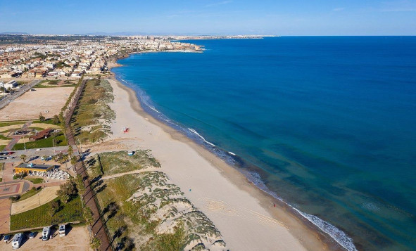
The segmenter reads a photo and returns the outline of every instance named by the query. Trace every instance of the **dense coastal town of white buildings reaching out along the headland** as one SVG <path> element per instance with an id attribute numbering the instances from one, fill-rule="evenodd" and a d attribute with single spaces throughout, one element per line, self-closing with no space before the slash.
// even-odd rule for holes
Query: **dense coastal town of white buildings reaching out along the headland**
<path id="1" fill-rule="evenodd" d="M 79 78 L 106 72 L 108 59 L 120 53 L 202 51 L 194 44 L 172 42 L 166 37 L 70 37 L 70 41 L 64 41 L 68 37 L 57 36 L 47 43 L 39 43 L 38 36 L 28 37 L 27 41 L 38 43 L 0 44 L 0 79 Z"/>

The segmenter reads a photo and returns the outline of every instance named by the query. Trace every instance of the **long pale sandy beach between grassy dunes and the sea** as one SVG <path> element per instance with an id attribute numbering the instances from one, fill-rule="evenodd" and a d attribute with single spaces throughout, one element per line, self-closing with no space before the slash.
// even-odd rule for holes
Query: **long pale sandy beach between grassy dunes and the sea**
<path id="1" fill-rule="evenodd" d="M 114 78 L 108 81 L 115 98 L 113 135 L 90 146 L 92 153 L 151 149 L 161 171 L 213 221 L 230 250 L 342 250 L 237 169 L 144 112 L 134 91 Z M 123 127 L 130 131 L 123 133 Z"/>

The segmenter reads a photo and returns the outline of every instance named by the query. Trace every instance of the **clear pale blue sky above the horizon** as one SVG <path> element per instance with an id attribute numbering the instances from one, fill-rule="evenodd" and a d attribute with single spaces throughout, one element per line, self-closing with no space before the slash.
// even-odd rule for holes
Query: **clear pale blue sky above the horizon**
<path id="1" fill-rule="evenodd" d="M 0 0 L 0 32 L 416 35 L 416 0 Z"/>

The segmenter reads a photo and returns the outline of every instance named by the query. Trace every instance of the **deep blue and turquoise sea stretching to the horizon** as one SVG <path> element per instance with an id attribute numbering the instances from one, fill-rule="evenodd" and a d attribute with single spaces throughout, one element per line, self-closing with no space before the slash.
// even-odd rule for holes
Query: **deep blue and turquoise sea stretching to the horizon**
<path id="1" fill-rule="evenodd" d="M 191 42 L 113 72 L 348 250 L 416 250 L 416 37 Z"/>

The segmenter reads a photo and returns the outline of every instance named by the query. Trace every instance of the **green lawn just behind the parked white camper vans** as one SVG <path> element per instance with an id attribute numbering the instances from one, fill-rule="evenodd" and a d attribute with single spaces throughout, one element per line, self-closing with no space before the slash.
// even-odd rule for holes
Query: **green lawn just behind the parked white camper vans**
<path id="1" fill-rule="evenodd" d="M 56 198 L 55 200 L 58 200 Z M 66 222 L 84 221 L 80 196 L 67 204 L 61 203 L 61 210 L 52 217 L 48 214 L 51 202 L 20 214 L 11 215 L 10 230 L 29 229 L 42 226 L 51 226 Z"/>

